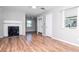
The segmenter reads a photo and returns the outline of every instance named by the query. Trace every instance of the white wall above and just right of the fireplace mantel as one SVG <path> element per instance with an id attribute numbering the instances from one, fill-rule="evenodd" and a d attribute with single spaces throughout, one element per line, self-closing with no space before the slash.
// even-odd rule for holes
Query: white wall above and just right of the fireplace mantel
<path id="1" fill-rule="evenodd" d="M 15 10 L 3 9 L 3 21 L 16 20 L 22 22 L 22 35 L 25 35 L 25 13 Z"/>

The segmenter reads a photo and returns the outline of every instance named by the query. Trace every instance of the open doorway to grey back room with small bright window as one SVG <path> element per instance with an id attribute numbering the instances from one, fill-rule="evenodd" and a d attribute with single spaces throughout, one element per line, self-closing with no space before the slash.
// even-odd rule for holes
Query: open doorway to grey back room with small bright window
<path id="1" fill-rule="evenodd" d="M 26 16 L 25 20 L 26 33 L 37 32 L 37 18 L 34 16 Z"/>

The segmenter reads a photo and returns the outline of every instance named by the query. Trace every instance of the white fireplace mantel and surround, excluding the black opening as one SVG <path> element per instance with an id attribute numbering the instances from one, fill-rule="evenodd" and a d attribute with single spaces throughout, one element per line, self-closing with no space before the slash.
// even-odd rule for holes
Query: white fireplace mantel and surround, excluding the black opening
<path id="1" fill-rule="evenodd" d="M 5 20 L 4 22 L 4 36 L 8 36 L 8 26 L 19 26 L 19 34 L 22 35 L 22 22 L 14 20 Z"/>

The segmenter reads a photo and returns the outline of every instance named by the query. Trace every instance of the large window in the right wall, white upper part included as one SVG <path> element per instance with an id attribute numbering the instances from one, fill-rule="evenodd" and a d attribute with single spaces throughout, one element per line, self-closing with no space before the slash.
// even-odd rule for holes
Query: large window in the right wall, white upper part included
<path id="1" fill-rule="evenodd" d="M 64 10 L 64 25 L 66 28 L 77 28 L 77 8 Z"/>

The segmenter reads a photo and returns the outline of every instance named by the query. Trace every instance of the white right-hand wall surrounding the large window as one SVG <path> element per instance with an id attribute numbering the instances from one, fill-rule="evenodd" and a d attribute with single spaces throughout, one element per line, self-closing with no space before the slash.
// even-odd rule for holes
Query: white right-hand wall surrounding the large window
<path id="1" fill-rule="evenodd" d="M 54 9 L 53 13 L 53 36 L 64 41 L 79 44 L 79 25 L 75 29 L 68 29 L 63 27 L 63 9 L 66 7 L 60 7 Z M 79 11 L 79 10 L 78 10 Z M 70 14 L 76 14 L 77 11 L 69 12 Z M 79 14 L 79 12 L 77 12 Z M 78 15 L 79 17 L 79 15 Z M 79 21 L 79 18 L 78 18 Z M 78 23 L 79 24 L 79 23 Z"/>

